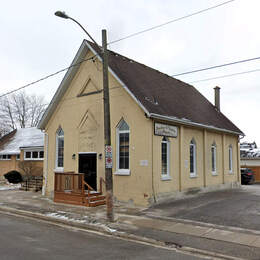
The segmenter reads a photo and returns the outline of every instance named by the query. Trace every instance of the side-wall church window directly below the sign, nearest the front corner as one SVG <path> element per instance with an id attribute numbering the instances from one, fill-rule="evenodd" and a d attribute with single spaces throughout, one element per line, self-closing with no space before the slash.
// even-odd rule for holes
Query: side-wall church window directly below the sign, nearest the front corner
<path id="1" fill-rule="evenodd" d="M 170 142 L 163 137 L 161 142 L 161 178 L 162 180 L 170 179 Z"/>

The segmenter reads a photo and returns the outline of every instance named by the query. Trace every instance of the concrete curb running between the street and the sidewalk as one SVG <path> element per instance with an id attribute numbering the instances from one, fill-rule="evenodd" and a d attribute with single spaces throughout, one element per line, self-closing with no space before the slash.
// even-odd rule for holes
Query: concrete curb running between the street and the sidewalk
<path id="1" fill-rule="evenodd" d="M 204 256 L 204 257 L 214 257 L 214 259 L 225 259 L 225 260 L 242 260 L 242 258 L 237 258 L 233 256 L 228 256 L 228 255 L 222 255 L 219 253 L 211 252 L 211 251 L 206 251 L 202 249 L 197 249 L 197 248 L 191 248 L 187 246 L 181 246 L 177 244 L 172 244 L 172 243 L 167 243 L 164 241 L 159 241 L 156 239 L 152 238 L 147 238 L 143 236 L 138 236 L 130 233 L 125 233 L 121 231 L 116 231 L 110 228 L 109 226 L 106 226 L 105 224 L 91 224 L 91 223 L 79 223 L 71 220 L 63 220 L 63 219 L 58 219 L 55 217 L 51 216 L 46 216 L 41 213 L 36 213 L 36 212 L 31 212 L 31 211 L 26 211 L 26 210 L 21 210 L 21 209 L 15 209 L 15 208 L 10 208 L 10 207 L 5 207 L 5 206 L 0 206 L 0 212 L 3 214 L 8 214 L 8 215 L 18 215 L 18 216 L 23 216 L 27 218 L 33 218 L 36 220 L 41 220 L 47 223 L 52 223 L 56 225 L 62 225 L 66 227 L 73 227 L 80 229 L 81 231 L 93 231 L 97 233 L 101 233 L 102 235 L 107 235 L 107 236 L 113 236 L 115 238 L 121 238 L 125 240 L 130 240 L 133 242 L 140 242 L 144 244 L 149 244 L 152 246 L 168 249 L 168 250 L 174 250 L 176 252 L 182 252 L 182 253 L 187 253 L 190 255 L 197 255 L 197 256 Z"/>

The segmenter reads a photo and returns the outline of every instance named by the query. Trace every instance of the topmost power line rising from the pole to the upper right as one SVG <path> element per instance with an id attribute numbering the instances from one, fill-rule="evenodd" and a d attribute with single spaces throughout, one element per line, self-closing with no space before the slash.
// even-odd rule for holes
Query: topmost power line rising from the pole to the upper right
<path id="1" fill-rule="evenodd" d="M 234 1 L 235 1 L 235 0 L 229 0 L 229 1 L 226 1 L 226 2 L 224 2 L 224 3 L 218 4 L 218 5 L 214 5 L 214 6 L 211 6 L 211 7 L 206 8 L 206 9 L 202 9 L 202 10 L 200 10 L 200 11 L 197 11 L 197 12 L 194 12 L 194 13 L 191 13 L 191 14 L 188 14 L 188 15 L 185 15 L 185 16 L 182 16 L 182 17 L 173 19 L 173 20 L 168 21 L 168 22 L 166 22 L 166 23 L 162 23 L 162 24 L 159 24 L 159 25 L 156 25 L 156 26 L 147 28 L 147 29 L 145 29 L 145 30 L 142 30 L 142 31 L 139 31 L 139 32 L 136 32 L 136 33 L 129 34 L 129 35 L 125 36 L 125 37 L 122 37 L 122 38 L 119 38 L 119 39 L 117 39 L 117 40 L 114 40 L 114 41 L 109 42 L 108 45 L 114 44 L 114 43 L 116 43 L 116 42 L 120 42 L 120 41 L 123 41 L 123 40 L 126 40 L 126 39 L 129 39 L 129 38 L 132 38 L 132 37 L 137 36 L 137 35 L 142 34 L 142 33 L 146 33 L 146 32 L 152 31 L 152 30 L 154 30 L 154 29 L 163 27 L 163 26 L 168 25 L 168 24 L 170 24 L 170 23 L 178 22 L 178 21 L 180 21 L 180 20 L 189 18 L 189 17 L 191 17 L 191 16 L 195 16 L 195 15 L 197 15 L 197 14 L 204 13 L 204 12 L 206 12 L 206 11 L 209 11 L 209 10 L 212 10 L 212 9 L 215 9 L 215 8 L 218 8 L 218 7 L 220 7 L 220 6 L 229 4 L 229 3 L 234 2 Z"/>

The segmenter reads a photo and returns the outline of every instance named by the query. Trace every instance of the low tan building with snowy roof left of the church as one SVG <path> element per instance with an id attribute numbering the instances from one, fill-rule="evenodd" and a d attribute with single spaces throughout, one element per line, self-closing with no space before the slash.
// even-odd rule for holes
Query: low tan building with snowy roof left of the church
<path id="1" fill-rule="evenodd" d="M 22 175 L 42 176 L 44 134 L 36 127 L 12 131 L 0 139 L 0 178 L 16 170 Z"/>

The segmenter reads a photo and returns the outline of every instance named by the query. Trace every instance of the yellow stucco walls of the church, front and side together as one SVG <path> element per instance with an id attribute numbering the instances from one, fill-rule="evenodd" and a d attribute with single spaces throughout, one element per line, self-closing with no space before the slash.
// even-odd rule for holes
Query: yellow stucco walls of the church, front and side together
<path id="1" fill-rule="evenodd" d="M 92 54 L 87 54 L 87 57 Z M 84 89 L 87 84 L 86 89 Z M 44 171 L 47 173 L 46 194 L 54 190 L 56 156 L 56 131 L 64 131 L 64 171 L 78 172 L 78 153 L 102 153 L 97 159 L 97 180 L 104 178 L 104 126 L 103 93 L 78 97 L 102 89 L 102 65 L 99 61 L 82 63 L 68 90 L 59 102 L 45 131 L 48 143 L 45 145 Z M 110 74 L 111 138 L 113 147 L 114 195 L 120 201 L 131 201 L 147 205 L 153 201 L 153 194 L 185 191 L 193 188 L 217 186 L 236 182 L 237 137 L 200 128 L 176 125 L 178 136 L 170 141 L 170 178 L 161 179 L 161 136 L 154 135 L 154 122 L 145 117 L 144 111 Z M 116 127 L 121 119 L 130 127 L 130 175 L 117 175 L 116 171 Z M 168 123 L 169 124 L 169 123 Z M 190 177 L 189 144 L 196 142 L 196 177 Z M 217 174 L 211 172 L 212 143 L 217 147 Z M 228 172 L 228 146 L 233 147 L 233 173 Z M 224 156 L 223 156 L 224 151 Z M 48 153 L 48 154 L 47 154 Z M 76 158 L 72 159 L 72 155 Z M 223 162 L 224 159 L 224 162 Z M 146 161 L 146 166 L 143 165 Z M 223 170 L 224 165 L 224 170 Z"/>

